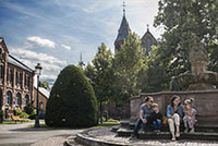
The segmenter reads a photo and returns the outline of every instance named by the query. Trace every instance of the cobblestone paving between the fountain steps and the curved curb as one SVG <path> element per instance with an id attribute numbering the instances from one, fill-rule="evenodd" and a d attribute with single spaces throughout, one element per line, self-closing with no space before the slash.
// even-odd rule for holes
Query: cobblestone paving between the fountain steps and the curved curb
<path id="1" fill-rule="evenodd" d="M 88 135 L 104 141 L 131 144 L 134 146 L 218 146 L 218 141 L 180 139 L 171 142 L 170 139 L 130 139 L 130 137 L 116 137 L 116 133 L 111 132 L 110 129 L 89 131 Z"/>

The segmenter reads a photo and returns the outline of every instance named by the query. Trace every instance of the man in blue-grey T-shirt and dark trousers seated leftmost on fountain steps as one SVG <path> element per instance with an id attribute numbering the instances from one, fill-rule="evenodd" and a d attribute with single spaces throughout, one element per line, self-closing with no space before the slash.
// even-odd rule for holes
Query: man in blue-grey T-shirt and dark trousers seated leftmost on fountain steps
<path id="1" fill-rule="evenodd" d="M 149 114 L 153 112 L 152 105 L 154 102 L 153 97 L 148 96 L 145 98 L 145 102 L 141 105 L 140 107 L 140 118 L 137 119 L 134 127 L 134 132 L 132 134 L 132 137 L 138 136 L 138 130 L 141 129 L 141 125 L 143 126 L 143 130 L 145 131 L 146 124 L 148 123 Z"/>

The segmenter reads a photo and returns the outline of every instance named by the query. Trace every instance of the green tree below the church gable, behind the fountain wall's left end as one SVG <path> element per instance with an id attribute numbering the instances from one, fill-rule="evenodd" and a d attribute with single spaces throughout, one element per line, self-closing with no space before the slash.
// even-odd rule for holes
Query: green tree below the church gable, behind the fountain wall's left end
<path id="1" fill-rule="evenodd" d="M 144 68 L 138 73 L 137 83 L 144 93 L 154 93 L 169 88 L 166 84 L 169 80 L 166 61 L 161 58 L 164 54 L 159 46 L 153 46 L 149 56 L 145 58 Z"/>

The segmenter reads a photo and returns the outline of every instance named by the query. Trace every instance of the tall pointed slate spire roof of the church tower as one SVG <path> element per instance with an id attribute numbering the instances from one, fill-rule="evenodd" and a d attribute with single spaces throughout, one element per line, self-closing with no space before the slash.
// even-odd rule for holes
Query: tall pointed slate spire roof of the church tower
<path id="1" fill-rule="evenodd" d="M 116 41 L 124 40 L 128 38 L 129 33 L 131 32 L 128 20 L 125 19 L 125 15 L 123 15 L 120 28 L 118 31 L 118 36 Z"/>

